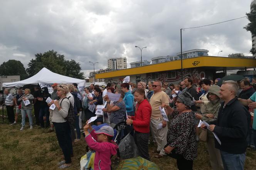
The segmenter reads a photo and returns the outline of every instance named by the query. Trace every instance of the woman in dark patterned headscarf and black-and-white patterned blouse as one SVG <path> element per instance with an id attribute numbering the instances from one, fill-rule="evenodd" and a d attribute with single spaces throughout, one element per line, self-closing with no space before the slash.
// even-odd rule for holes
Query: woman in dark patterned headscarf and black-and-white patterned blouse
<path id="1" fill-rule="evenodd" d="M 192 96 L 188 92 L 183 92 L 177 97 L 175 110 L 168 105 L 162 105 L 167 108 L 169 114 L 172 114 L 165 153 L 175 154 L 179 170 L 192 170 L 193 160 L 197 158 L 194 112 L 190 108 L 191 101 Z"/>

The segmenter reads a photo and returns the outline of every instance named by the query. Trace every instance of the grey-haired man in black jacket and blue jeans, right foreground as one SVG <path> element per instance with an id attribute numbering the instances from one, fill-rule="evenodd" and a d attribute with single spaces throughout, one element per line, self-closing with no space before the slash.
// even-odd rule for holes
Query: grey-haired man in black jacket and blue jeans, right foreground
<path id="1" fill-rule="evenodd" d="M 225 170 L 242 170 L 246 157 L 247 141 L 251 116 L 248 110 L 236 98 L 238 84 L 225 81 L 220 88 L 221 103 L 218 118 L 209 127 L 221 141 L 215 140 L 215 147 L 221 151 Z M 205 125 L 202 125 L 205 128 Z"/>

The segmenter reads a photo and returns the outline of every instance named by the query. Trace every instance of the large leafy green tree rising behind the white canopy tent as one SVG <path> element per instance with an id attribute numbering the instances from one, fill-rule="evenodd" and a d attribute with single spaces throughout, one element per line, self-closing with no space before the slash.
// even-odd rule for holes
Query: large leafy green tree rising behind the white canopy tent
<path id="1" fill-rule="evenodd" d="M 80 64 L 75 60 L 65 60 L 65 56 L 58 54 L 54 50 L 45 53 L 35 54 L 35 59 L 30 60 L 27 68 L 29 77 L 38 73 L 42 68 L 47 68 L 54 73 L 84 79 L 84 73 L 81 72 Z"/>

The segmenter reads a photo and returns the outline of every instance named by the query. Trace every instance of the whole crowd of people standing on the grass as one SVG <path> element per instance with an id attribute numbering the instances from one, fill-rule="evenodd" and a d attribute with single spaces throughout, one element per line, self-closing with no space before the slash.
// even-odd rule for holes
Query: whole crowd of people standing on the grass
<path id="1" fill-rule="evenodd" d="M 217 85 L 219 80 L 203 78 L 194 84 L 187 77 L 175 85 L 155 80 L 148 85 L 145 82 L 108 83 L 105 88 L 91 84 L 83 92 L 79 92 L 76 83 L 54 83 L 52 94 L 47 87 L 36 86 L 34 95 L 26 88 L 24 94 L 18 89 L 16 96 L 6 88 L 5 105 L 12 125 L 21 113 L 20 130 L 25 128 L 26 115 L 30 129 L 33 128 L 33 105 L 35 125 L 50 127 L 49 132 L 55 128 L 64 155 L 59 168 L 71 166 L 72 146 L 84 131 L 86 142 L 96 151 L 94 168 L 110 169 L 110 156 L 115 155 L 118 148 L 112 141 L 113 127 L 125 121 L 138 154 L 147 160 L 151 160 L 152 154 L 159 159 L 170 156 L 177 159 L 179 170 L 192 169 L 198 142 L 205 137 L 212 169 L 243 169 L 246 149 L 256 147 L 256 118 L 253 117 L 256 78 L 252 83 L 246 78 L 238 82 L 228 80 L 221 86 Z M 111 101 L 107 92 L 120 94 L 120 99 Z M 48 97 L 52 99 L 50 103 L 46 102 Z M 56 106 L 53 110 L 49 109 L 52 104 Z M 89 108 L 92 104 L 96 105 L 94 110 Z M 97 105 L 104 104 L 103 115 L 98 115 L 93 124 L 108 123 L 109 126 L 95 131 L 88 120 L 96 115 Z M 16 107 L 15 115 L 13 107 Z M 161 109 L 165 110 L 169 123 L 163 119 Z M 201 121 L 204 123 L 199 125 Z M 86 122 L 84 127 L 83 122 Z M 156 145 L 152 152 L 148 150 L 150 142 Z"/>

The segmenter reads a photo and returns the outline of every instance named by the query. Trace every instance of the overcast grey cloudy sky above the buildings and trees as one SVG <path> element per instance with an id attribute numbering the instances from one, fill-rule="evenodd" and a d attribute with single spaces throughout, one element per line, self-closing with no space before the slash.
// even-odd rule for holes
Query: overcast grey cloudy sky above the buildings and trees
<path id="1" fill-rule="evenodd" d="M 130 62 L 180 52 L 180 28 L 245 16 L 251 0 L 0 0 L 0 64 L 56 50 L 85 72 L 107 67 L 107 59 Z M 209 55 L 249 54 L 247 18 L 182 31 L 183 49 Z M 88 74 L 86 74 L 88 76 Z"/>

